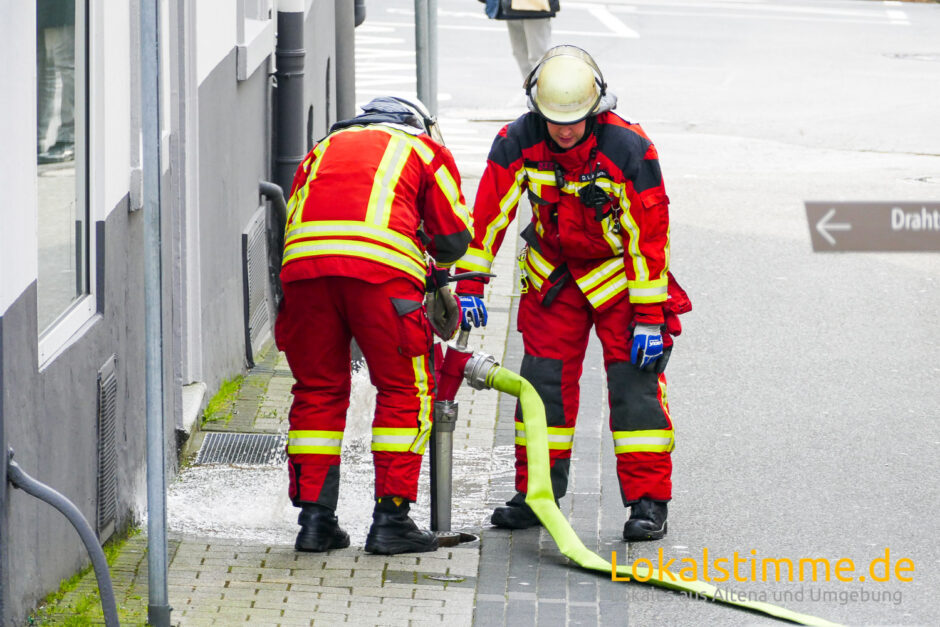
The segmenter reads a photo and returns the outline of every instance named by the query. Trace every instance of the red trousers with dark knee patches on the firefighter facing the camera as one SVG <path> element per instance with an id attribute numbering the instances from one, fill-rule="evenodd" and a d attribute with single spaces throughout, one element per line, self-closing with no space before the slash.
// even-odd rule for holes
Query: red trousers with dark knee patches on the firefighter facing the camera
<path id="1" fill-rule="evenodd" d="M 593 326 L 601 342 L 607 371 L 610 430 L 617 456 L 617 476 L 625 505 L 646 496 L 672 497 L 674 434 L 664 374 L 642 372 L 630 363 L 630 322 L 627 298 L 596 311 L 570 281 L 545 306 L 527 292 L 519 303 L 519 331 L 525 346 L 520 374 L 545 404 L 549 457 L 555 498 L 564 496 L 580 400 L 579 380 Z M 664 336 L 667 345 L 671 338 Z M 671 350 L 671 348 L 667 348 Z M 516 407 L 516 489 L 526 492 L 528 466 L 525 429 Z"/>

